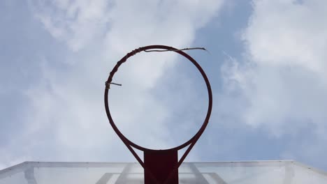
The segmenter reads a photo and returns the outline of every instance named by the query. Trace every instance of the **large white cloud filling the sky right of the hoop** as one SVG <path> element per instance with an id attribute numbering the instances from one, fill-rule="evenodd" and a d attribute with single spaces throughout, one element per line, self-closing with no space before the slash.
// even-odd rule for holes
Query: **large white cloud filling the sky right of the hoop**
<path id="1" fill-rule="evenodd" d="M 309 126 L 319 142 L 326 140 L 326 8 L 326 1 L 253 2 L 242 36 L 245 61 L 222 69 L 226 86 L 240 89 L 241 121 L 276 136 L 297 135 Z"/>

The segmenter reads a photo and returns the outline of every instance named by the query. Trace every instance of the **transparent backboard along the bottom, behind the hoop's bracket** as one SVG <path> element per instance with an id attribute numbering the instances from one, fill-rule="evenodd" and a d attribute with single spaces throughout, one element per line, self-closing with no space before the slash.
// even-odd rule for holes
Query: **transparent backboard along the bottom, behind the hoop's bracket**
<path id="1" fill-rule="evenodd" d="M 327 183 L 324 171 L 291 160 L 186 162 L 180 183 Z M 144 183 L 138 163 L 23 162 L 0 171 L 0 184 Z"/>

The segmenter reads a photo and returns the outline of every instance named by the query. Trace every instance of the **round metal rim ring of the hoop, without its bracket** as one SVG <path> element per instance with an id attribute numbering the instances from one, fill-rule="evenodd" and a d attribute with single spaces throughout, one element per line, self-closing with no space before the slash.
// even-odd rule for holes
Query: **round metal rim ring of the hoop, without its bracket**
<path id="1" fill-rule="evenodd" d="M 176 52 L 176 53 L 184 56 L 185 58 L 189 59 L 189 61 L 191 61 L 191 63 L 193 63 L 194 66 L 196 66 L 198 71 L 201 73 L 201 75 L 202 75 L 202 77 L 203 77 L 203 79 L 205 81 L 205 84 L 207 86 L 208 100 L 209 100 L 209 102 L 208 102 L 208 112 L 207 112 L 207 115 L 205 116 L 205 120 L 203 121 L 203 125 L 201 125 L 201 128 L 198 130 L 198 132 L 196 132 L 196 134 L 193 137 L 191 137 L 191 139 L 184 142 L 183 144 L 180 144 L 180 146 L 175 146 L 173 148 L 164 149 L 162 151 L 180 150 L 180 149 L 188 146 L 189 144 L 193 143 L 194 141 L 197 141 L 198 138 L 204 132 L 205 128 L 207 127 L 208 122 L 209 122 L 209 118 L 210 118 L 210 115 L 211 115 L 211 111 L 212 111 L 212 91 L 211 91 L 211 86 L 210 86 L 210 82 L 208 80 L 208 77 L 207 77 L 207 75 L 205 75 L 205 72 L 203 71 L 201 66 L 195 61 L 195 59 L 193 59 L 191 56 L 189 56 L 189 54 L 186 54 L 185 52 L 182 52 L 179 49 L 175 49 L 174 47 L 169 47 L 169 46 L 166 46 L 166 45 L 149 45 L 149 46 L 145 46 L 145 47 L 140 47 L 138 49 L 133 50 L 132 52 L 129 52 L 120 61 L 118 61 L 116 66 L 110 72 L 110 75 L 109 75 L 108 80 L 106 82 L 106 89 L 105 89 L 105 93 L 104 93 L 104 95 L 105 95 L 104 97 L 105 97 L 106 114 L 108 116 L 108 120 L 109 120 L 110 125 L 112 126 L 113 130 L 115 130 L 116 134 L 119 136 L 120 139 L 122 139 L 122 141 L 124 141 L 125 144 L 130 144 L 131 146 L 133 146 L 134 148 L 139 149 L 140 151 L 158 151 L 156 149 L 150 149 L 150 148 L 145 148 L 143 146 L 139 146 L 138 144 L 133 143 L 133 141 L 130 141 L 129 139 L 127 139 L 122 134 L 122 132 L 119 131 L 119 129 L 115 125 L 115 122 L 113 121 L 112 116 L 110 114 L 110 108 L 109 108 L 109 105 L 108 105 L 109 104 L 108 91 L 110 89 L 110 83 L 112 82 L 112 77 L 115 75 L 115 72 L 117 72 L 119 66 L 121 66 L 122 63 L 126 62 L 126 60 L 129 59 L 129 57 L 137 54 L 138 52 L 143 52 L 143 51 L 149 50 L 149 49 L 167 49 L 167 50 L 171 50 L 173 52 Z"/>

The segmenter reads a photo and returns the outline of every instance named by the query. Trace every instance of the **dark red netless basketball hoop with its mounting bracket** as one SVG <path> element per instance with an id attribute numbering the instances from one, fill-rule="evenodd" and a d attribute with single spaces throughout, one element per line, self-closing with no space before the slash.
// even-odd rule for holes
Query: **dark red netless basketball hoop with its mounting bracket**
<path id="1" fill-rule="evenodd" d="M 151 52 L 151 49 L 163 49 L 162 51 L 176 52 L 184 56 L 185 58 L 189 59 L 189 61 L 191 61 L 191 63 L 193 63 L 194 66 L 196 66 L 198 71 L 201 73 L 208 90 L 208 100 L 209 100 L 208 112 L 207 115 L 205 116 L 205 120 L 203 121 L 203 124 L 201 125 L 201 128 L 198 130 L 198 132 L 196 132 L 196 134 L 193 137 L 191 137 L 191 139 L 184 142 L 183 144 L 180 144 L 180 146 L 175 146 L 173 148 L 168 148 L 163 150 L 145 148 L 127 139 L 115 125 L 115 122 L 112 119 L 109 109 L 108 92 L 110 89 L 110 84 L 115 84 L 112 83 L 112 77 L 117 72 L 119 66 L 121 66 L 122 63 L 126 62 L 127 59 L 129 59 L 129 57 L 143 51 Z M 159 52 L 158 50 L 155 51 Z M 172 183 L 172 184 L 178 183 L 178 167 L 180 167 L 180 164 L 182 164 L 184 159 L 187 157 L 193 146 L 196 144 L 196 141 L 198 141 L 198 139 L 201 137 L 202 133 L 204 132 L 205 128 L 209 123 L 209 118 L 212 111 L 211 86 L 208 77 L 205 75 L 205 72 L 203 71 L 201 66 L 191 56 L 189 56 L 189 54 L 182 52 L 182 50 L 180 49 L 175 49 L 174 47 L 169 47 L 166 45 L 149 45 L 145 47 L 139 47 L 138 49 L 134 49 L 132 52 L 129 52 L 122 59 L 120 59 L 120 61 L 117 62 L 115 67 L 110 72 L 110 75 L 106 82 L 104 101 L 106 107 L 106 114 L 108 116 L 108 120 L 110 122 L 110 125 L 112 126 L 112 129 L 115 130 L 118 137 L 122 139 L 126 147 L 129 148 L 129 151 L 131 151 L 131 153 L 134 155 L 136 160 L 138 160 L 140 165 L 145 169 L 145 183 Z M 187 151 L 185 151 L 185 153 L 178 161 L 177 151 L 179 151 L 182 148 L 185 148 L 186 146 L 189 146 L 189 148 L 187 148 Z M 137 155 L 137 153 L 133 150 L 132 147 L 137 148 L 138 150 L 144 152 L 144 160 L 145 160 L 144 162 L 140 159 L 140 157 Z"/>

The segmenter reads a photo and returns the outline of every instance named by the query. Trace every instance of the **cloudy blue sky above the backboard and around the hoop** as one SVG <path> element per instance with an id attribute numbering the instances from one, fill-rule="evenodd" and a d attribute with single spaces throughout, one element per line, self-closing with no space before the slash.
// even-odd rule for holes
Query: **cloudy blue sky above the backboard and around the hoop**
<path id="1" fill-rule="evenodd" d="M 187 161 L 297 160 L 327 170 L 326 9 L 324 0 L 1 1 L 0 169 L 136 162 L 106 117 L 105 82 L 131 50 L 169 45 L 208 49 L 186 51 L 213 93 Z M 203 123 L 205 84 L 182 56 L 136 54 L 113 82 L 122 86 L 110 89 L 112 116 L 141 146 L 180 145 Z"/>

